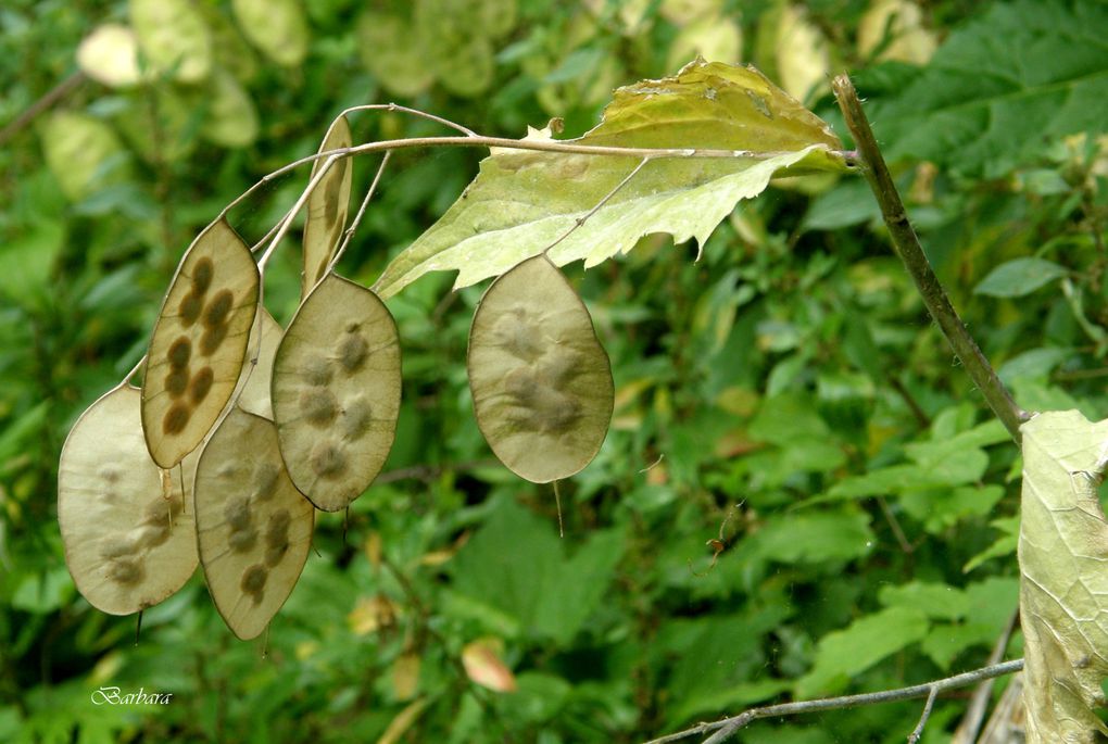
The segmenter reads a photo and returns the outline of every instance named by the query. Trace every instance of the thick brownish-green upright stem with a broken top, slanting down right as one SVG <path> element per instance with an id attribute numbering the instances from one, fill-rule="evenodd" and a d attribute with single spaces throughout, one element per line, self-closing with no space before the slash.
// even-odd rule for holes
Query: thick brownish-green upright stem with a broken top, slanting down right
<path id="1" fill-rule="evenodd" d="M 870 122 L 862 111 L 862 103 L 858 99 L 858 92 L 853 83 L 847 75 L 837 76 L 831 87 L 839 100 L 839 107 L 842 110 L 847 126 L 854 136 L 854 143 L 864 164 L 866 179 L 870 188 L 881 205 L 881 214 L 885 218 L 885 226 L 892 238 L 896 255 L 904 264 L 904 268 L 912 276 L 915 287 L 923 298 L 931 317 L 935 319 L 943 331 L 943 335 L 954 349 L 954 353 L 962 361 L 962 365 L 973 380 L 977 390 L 985 396 L 993 413 L 1001 420 L 1004 426 L 1012 434 L 1012 438 L 1019 443 L 1019 424 L 1027 421 L 1027 413 L 1023 411 L 1008 392 L 996 372 L 988 363 L 988 360 L 977 348 L 976 341 L 970 335 L 965 323 L 958 317 L 950 298 L 943 290 L 931 268 L 927 256 L 923 252 L 920 239 L 912 229 L 912 224 L 904 211 L 904 204 L 901 202 L 896 185 L 893 183 L 889 168 L 878 142 L 873 137 Z"/>

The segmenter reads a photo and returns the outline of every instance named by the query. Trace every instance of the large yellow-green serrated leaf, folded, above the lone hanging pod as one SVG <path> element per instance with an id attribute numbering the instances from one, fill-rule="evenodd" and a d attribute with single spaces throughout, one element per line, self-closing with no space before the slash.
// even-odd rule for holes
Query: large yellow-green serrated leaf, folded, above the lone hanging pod
<path id="1" fill-rule="evenodd" d="M 548 131 L 529 136 L 550 140 Z M 568 142 L 773 155 L 657 158 L 613 193 L 635 158 L 496 149 L 442 219 L 386 268 L 375 290 L 388 298 L 428 271 L 455 269 L 455 289 L 466 287 L 567 234 L 550 251 L 560 266 L 581 259 L 595 266 L 652 232 L 669 232 L 678 242 L 696 238 L 702 247 L 738 202 L 760 194 L 780 170 L 845 167 L 827 124 L 761 73 L 702 61 L 675 78 L 619 89 L 601 124 Z M 586 215 L 588 221 L 570 234 Z"/>

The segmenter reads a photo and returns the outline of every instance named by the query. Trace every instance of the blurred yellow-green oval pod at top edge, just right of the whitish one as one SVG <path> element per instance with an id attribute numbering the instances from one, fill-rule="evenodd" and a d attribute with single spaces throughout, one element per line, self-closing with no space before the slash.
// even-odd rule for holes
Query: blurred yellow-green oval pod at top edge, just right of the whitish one
<path id="1" fill-rule="evenodd" d="M 212 70 L 212 34 L 189 0 L 131 0 L 142 58 L 157 74 L 198 83 Z"/>

